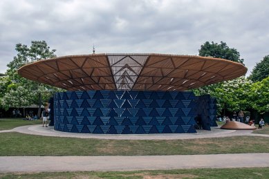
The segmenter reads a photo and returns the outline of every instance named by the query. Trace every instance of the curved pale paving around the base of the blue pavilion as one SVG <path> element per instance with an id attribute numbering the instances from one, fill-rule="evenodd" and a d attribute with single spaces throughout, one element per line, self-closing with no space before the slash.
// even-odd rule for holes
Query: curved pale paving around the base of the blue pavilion
<path id="1" fill-rule="evenodd" d="M 0 131 L 19 132 L 32 135 L 46 135 L 66 138 L 97 138 L 97 139 L 113 139 L 113 140 L 178 140 L 178 139 L 194 139 L 194 138 L 221 138 L 238 135 L 262 136 L 269 135 L 254 134 L 252 130 L 223 130 L 219 127 L 212 127 L 211 131 L 197 130 L 197 133 L 157 133 L 157 134 L 92 134 L 92 133 L 65 133 L 55 131 L 53 126 L 42 127 L 42 125 L 19 126 L 15 129 Z"/>

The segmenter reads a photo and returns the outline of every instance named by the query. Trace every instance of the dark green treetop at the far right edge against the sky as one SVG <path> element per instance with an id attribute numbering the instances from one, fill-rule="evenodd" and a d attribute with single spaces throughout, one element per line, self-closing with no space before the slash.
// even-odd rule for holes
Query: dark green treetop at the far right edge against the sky
<path id="1" fill-rule="evenodd" d="M 253 82 L 261 82 L 261 80 L 265 79 L 269 76 L 269 55 L 263 57 L 261 62 L 257 63 L 253 68 L 252 73 L 250 74 L 249 79 Z"/>

